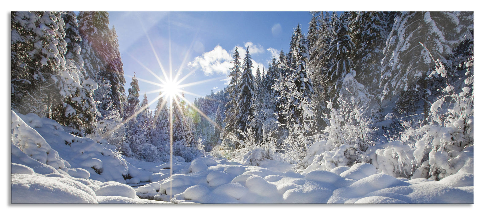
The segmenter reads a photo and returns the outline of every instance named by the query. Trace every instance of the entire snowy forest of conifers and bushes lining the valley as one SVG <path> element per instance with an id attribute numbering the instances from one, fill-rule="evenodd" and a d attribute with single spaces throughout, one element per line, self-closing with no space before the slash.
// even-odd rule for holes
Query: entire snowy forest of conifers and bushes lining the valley
<path id="1" fill-rule="evenodd" d="M 136 73 L 125 79 L 132 71 L 123 70 L 108 12 L 12 11 L 12 148 L 33 150 L 14 122 L 38 130 L 35 115 L 62 125 L 73 136 L 65 145 L 90 139 L 133 165 L 170 163 L 170 176 L 173 165 L 210 167 L 206 158 L 308 177 L 368 165 L 404 181 L 473 171 L 473 11 L 310 13 L 308 29 L 295 26 L 289 52 L 267 67 L 236 47 L 225 89 L 194 101 L 161 91 L 152 110 Z M 91 176 L 103 172 L 86 165 Z M 155 200 L 181 193 L 173 192 Z"/>

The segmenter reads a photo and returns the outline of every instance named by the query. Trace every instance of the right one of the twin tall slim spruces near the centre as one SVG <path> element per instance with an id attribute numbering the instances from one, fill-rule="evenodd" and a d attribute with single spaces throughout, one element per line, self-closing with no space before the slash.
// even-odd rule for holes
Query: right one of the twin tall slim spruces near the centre
<path id="1" fill-rule="evenodd" d="M 254 76 L 252 69 L 253 62 L 249 54 L 249 46 L 246 49 L 246 55 L 242 61 L 241 81 L 239 82 L 239 92 L 237 97 L 236 108 L 238 113 L 236 115 L 236 126 L 242 132 L 247 132 L 251 123 L 251 118 L 254 115 L 253 99 L 255 97 Z M 243 140 L 243 136 L 236 134 L 239 140 Z"/>

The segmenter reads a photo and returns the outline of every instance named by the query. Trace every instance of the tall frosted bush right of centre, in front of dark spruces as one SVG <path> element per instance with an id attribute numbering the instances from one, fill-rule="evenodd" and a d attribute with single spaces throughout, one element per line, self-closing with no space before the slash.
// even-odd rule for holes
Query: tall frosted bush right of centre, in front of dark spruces
<path id="1" fill-rule="evenodd" d="M 335 167 L 351 166 L 360 162 L 371 162 L 368 152 L 376 129 L 372 122 L 369 94 L 359 84 L 351 70 L 342 80 L 338 107 L 327 102 L 328 114 L 323 113 L 328 126 L 325 127 L 323 141 L 312 143 L 303 159 L 305 172 L 312 169 L 331 170 Z M 321 138 L 322 138 L 321 137 Z"/>

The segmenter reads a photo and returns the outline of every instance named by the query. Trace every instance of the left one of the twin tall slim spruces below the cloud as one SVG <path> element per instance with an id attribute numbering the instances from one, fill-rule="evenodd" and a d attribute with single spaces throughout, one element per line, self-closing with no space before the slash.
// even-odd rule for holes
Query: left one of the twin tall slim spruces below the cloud
<path id="1" fill-rule="evenodd" d="M 239 56 L 237 47 L 234 50 L 234 54 L 232 55 L 232 57 L 233 60 L 231 62 L 234 66 L 232 67 L 231 72 L 229 72 L 228 76 L 231 77 L 231 81 L 226 88 L 227 99 L 229 99 L 229 102 L 226 103 L 226 111 L 224 112 L 226 115 L 226 117 L 224 118 L 224 124 L 226 124 L 226 126 L 224 127 L 224 133 L 234 132 L 235 129 L 238 128 L 236 124 L 236 116 L 238 114 L 238 87 L 241 79 L 241 62 L 239 61 L 241 57 Z M 224 134 L 223 140 L 225 136 L 226 135 Z"/>

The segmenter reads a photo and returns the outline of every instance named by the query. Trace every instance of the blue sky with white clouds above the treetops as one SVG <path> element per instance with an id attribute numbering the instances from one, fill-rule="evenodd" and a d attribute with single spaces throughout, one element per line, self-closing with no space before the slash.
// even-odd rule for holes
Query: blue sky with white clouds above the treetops
<path id="1" fill-rule="evenodd" d="M 167 73 L 171 68 L 174 76 L 180 71 L 180 78 L 193 71 L 181 84 L 210 80 L 184 88 L 195 94 L 185 94 L 192 102 L 196 97 L 210 94 L 210 90 L 216 92 L 226 87 L 226 74 L 232 67 L 229 61 L 236 46 L 240 47 L 238 51 L 242 58 L 245 46 L 249 46 L 256 63 L 254 72 L 258 65 L 267 69 L 272 52 L 279 54 L 281 49 L 288 52 L 294 28 L 301 24 L 306 33 L 311 19 L 307 11 L 109 13 L 110 25 L 115 26 L 118 34 L 127 80 L 125 90 L 129 88 L 133 72 L 136 72 L 141 90 L 140 100 L 147 92 L 149 101 L 158 96 L 159 93 L 154 91 L 160 87 L 143 80 L 160 81 L 148 70 L 162 79 L 160 64 Z M 156 102 L 150 105 L 150 109 L 155 107 Z"/>

